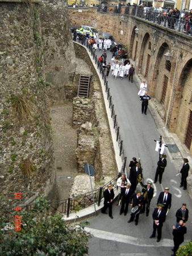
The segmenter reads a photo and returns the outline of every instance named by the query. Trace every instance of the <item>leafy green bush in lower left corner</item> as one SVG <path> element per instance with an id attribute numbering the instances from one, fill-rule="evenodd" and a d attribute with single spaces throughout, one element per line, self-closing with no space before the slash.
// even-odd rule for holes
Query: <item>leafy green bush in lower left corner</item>
<path id="1" fill-rule="evenodd" d="M 81 222 L 76 226 L 66 224 L 61 214 L 50 214 L 48 209 L 48 201 L 43 197 L 37 198 L 32 209 L 23 208 L 12 212 L 14 220 L 10 221 L 8 230 L 5 228 L 7 226 L 6 216 L 2 214 L 0 217 L 0 255 L 86 255 L 88 253 L 87 241 L 91 237 L 84 230 L 87 223 Z M 15 228 L 19 230 L 19 225 L 21 230 L 15 231 Z"/>

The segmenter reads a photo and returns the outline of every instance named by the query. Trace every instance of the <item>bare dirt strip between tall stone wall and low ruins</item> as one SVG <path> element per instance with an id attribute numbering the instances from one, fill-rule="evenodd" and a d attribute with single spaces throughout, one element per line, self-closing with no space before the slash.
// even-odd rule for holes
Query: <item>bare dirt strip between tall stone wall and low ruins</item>
<path id="1" fill-rule="evenodd" d="M 68 198 L 74 177 L 77 175 L 77 131 L 72 127 L 72 102 L 65 101 L 62 105 L 51 106 L 50 112 L 57 166 L 57 187 L 61 200 Z"/>

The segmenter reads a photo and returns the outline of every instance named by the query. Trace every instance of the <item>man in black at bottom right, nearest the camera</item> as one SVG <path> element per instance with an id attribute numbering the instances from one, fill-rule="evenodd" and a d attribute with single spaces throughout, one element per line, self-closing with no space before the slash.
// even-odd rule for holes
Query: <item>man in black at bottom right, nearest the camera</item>
<path id="1" fill-rule="evenodd" d="M 178 228 L 173 226 L 173 242 L 174 242 L 174 248 L 172 249 L 174 253 L 172 254 L 173 256 L 176 256 L 178 247 L 180 247 L 181 243 L 184 241 L 184 234 L 186 233 L 187 233 L 187 228 L 185 226 L 185 223 L 182 220 L 180 220 Z"/>

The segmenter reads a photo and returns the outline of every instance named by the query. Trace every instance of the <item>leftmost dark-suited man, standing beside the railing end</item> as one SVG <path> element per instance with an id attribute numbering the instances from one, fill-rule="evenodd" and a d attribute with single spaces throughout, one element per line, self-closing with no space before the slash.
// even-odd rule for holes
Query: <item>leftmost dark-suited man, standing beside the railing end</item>
<path id="1" fill-rule="evenodd" d="M 112 217 L 112 201 L 114 200 L 115 195 L 114 195 L 114 190 L 111 184 L 107 186 L 107 189 L 103 192 L 103 196 L 104 196 L 104 207 L 102 208 L 101 212 L 103 214 L 107 214 L 106 209 L 108 208 L 109 217 L 114 218 Z"/>

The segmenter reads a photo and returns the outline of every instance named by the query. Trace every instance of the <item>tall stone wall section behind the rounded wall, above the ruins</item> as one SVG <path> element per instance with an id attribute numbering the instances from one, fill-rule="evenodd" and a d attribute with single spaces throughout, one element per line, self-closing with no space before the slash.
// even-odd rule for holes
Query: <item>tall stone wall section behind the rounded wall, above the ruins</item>
<path id="1" fill-rule="evenodd" d="M 64 102 L 65 85 L 73 85 L 75 56 L 66 1 L 42 0 L 40 22 L 45 78 L 51 104 Z"/>

